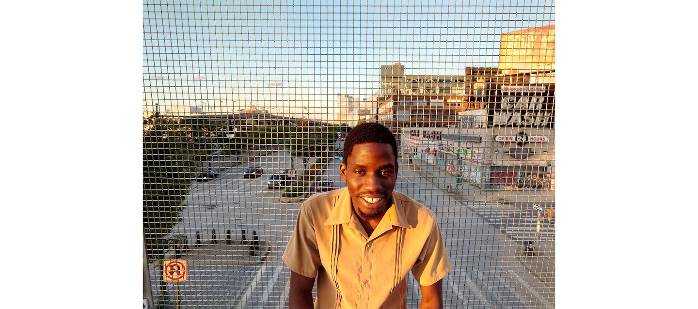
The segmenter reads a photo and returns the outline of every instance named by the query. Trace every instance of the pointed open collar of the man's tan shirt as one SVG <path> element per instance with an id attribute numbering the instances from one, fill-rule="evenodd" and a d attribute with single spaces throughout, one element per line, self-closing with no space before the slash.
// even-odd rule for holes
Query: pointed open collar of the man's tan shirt
<path id="1" fill-rule="evenodd" d="M 358 223 L 358 219 L 355 218 L 355 213 L 351 206 L 351 196 L 349 195 L 349 190 L 347 190 L 347 188 L 342 188 L 341 190 L 342 192 L 339 193 L 339 197 L 337 197 L 334 208 L 332 209 L 332 213 L 329 214 L 329 218 L 327 218 L 325 221 L 325 225 L 341 225 L 350 223 L 352 220 L 356 220 Z M 383 220 L 389 220 L 391 225 L 409 229 L 411 227 L 407 222 L 405 210 L 402 206 L 402 200 L 398 198 L 399 195 L 400 193 L 396 194 L 395 190 L 393 190 L 393 204 L 387 211 L 385 211 L 385 215 L 383 215 L 383 219 L 380 221 L 383 222 Z"/>

